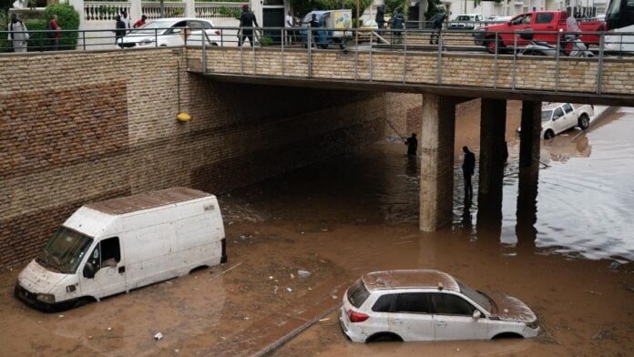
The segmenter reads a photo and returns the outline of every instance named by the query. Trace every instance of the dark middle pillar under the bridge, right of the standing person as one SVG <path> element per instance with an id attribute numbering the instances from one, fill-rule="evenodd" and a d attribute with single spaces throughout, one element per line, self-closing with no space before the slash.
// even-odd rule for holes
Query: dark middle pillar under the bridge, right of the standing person
<path id="1" fill-rule="evenodd" d="M 499 235 L 502 224 L 506 100 L 482 99 L 477 230 Z"/>

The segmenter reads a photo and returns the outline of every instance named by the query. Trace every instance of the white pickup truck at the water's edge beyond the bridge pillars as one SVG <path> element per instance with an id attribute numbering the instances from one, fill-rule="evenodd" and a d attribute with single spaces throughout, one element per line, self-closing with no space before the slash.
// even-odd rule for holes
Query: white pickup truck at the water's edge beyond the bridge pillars
<path id="1" fill-rule="evenodd" d="M 594 107 L 589 104 L 550 103 L 542 107 L 542 138 L 553 138 L 569 128 L 590 125 Z"/>

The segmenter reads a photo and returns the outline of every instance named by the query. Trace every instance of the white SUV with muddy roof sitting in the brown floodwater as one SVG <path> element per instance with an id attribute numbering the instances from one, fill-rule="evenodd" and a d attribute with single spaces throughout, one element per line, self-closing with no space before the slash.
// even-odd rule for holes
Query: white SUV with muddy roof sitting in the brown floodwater
<path id="1" fill-rule="evenodd" d="M 339 321 L 353 342 L 535 337 L 537 317 L 501 292 L 474 291 L 438 270 L 363 275 L 343 296 Z"/>

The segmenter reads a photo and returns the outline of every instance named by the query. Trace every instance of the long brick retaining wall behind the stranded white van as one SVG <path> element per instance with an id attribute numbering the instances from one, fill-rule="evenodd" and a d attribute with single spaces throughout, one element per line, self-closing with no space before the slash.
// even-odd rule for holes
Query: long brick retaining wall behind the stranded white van
<path id="1" fill-rule="evenodd" d="M 385 136 L 383 117 L 403 126 L 420 106 L 413 95 L 212 83 L 187 66 L 183 49 L 0 56 L 0 267 L 32 258 L 86 202 L 225 192 L 368 145 Z M 179 102 L 189 123 L 175 118 Z"/>

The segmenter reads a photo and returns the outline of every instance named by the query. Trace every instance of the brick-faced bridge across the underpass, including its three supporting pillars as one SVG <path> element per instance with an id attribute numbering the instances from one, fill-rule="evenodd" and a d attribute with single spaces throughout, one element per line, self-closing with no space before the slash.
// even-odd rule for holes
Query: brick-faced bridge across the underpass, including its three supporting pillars
<path id="1" fill-rule="evenodd" d="M 455 106 L 482 98 L 478 206 L 499 216 L 483 217 L 485 212 L 480 210 L 478 223 L 485 223 L 501 219 L 506 99 L 523 101 L 519 163 L 523 197 L 518 199 L 517 212 L 518 221 L 532 226 L 541 102 L 634 106 L 634 58 L 600 55 L 211 47 L 190 48 L 188 66 L 213 81 L 421 93 L 420 228 L 434 231 L 453 219 Z"/>

